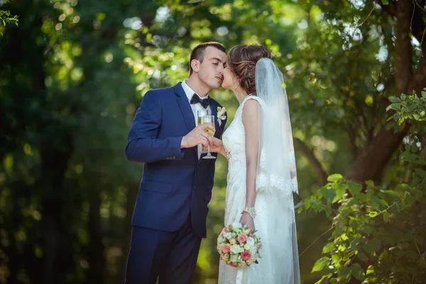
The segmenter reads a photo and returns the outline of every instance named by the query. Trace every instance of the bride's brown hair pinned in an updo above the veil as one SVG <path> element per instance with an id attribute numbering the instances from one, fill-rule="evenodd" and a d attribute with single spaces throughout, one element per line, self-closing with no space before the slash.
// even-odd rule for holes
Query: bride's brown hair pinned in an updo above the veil
<path id="1" fill-rule="evenodd" d="M 247 94 L 256 94 L 256 62 L 271 58 L 271 52 L 262 45 L 236 45 L 228 52 L 229 69 Z"/>

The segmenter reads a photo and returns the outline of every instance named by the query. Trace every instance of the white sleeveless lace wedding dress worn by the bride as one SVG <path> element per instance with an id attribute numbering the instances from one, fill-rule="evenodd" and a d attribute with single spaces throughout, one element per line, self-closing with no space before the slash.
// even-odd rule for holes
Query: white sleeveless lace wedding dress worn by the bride
<path id="1" fill-rule="evenodd" d="M 222 136 L 224 148 L 229 153 L 225 226 L 239 222 L 246 202 L 246 143 L 242 113 L 244 104 L 249 99 L 256 99 L 261 107 L 264 105 L 259 97 L 246 97 L 236 110 L 234 120 Z M 268 161 L 261 156 L 260 163 L 268 163 Z M 259 182 L 262 182 L 260 175 L 256 177 L 256 188 L 259 187 Z M 282 186 L 288 186 L 287 182 L 282 182 L 282 184 Z M 254 225 L 257 230 L 256 234 L 261 236 L 261 258 L 258 259 L 258 264 L 253 263 L 245 268 L 233 268 L 227 266 L 224 261 L 220 261 L 219 284 L 300 283 L 293 195 L 290 198 L 291 205 L 285 201 L 288 198 L 283 195 L 285 195 L 284 191 L 257 191 L 255 204 L 257 216 L 254 219 Z M 241 282 L 237 281 L 238 270 L 242 272 Z"/>

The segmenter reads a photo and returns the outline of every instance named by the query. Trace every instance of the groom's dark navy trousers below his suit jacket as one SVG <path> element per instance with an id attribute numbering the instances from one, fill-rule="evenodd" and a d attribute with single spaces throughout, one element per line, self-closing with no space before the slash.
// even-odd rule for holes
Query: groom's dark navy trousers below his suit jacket
<path id="1" fill-rule="evenodd" d="M 126 284 L 189 284 L 197 264 L 201 238 L 191 218 L 178 231 L 133 226 L 127 258 Z"/>

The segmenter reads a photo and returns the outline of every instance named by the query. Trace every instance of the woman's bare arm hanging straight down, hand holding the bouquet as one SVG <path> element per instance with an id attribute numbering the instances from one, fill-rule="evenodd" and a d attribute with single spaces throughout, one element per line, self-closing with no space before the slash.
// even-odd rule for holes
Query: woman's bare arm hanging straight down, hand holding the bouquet
<path id="1" fill-rule="evenodd" d="M 246 207 L 252 208 L 256 203 L 256 175 L 259 155 L 259 133 L 261 127 L 261 107 L 255 99 L 244 104 L 243 124 L 246 133 Z M 251 227 L 253 222 L 248 212 L 243 213 L 241 224 Z M 253 227 L 254 229 L 254 224 Z"/>

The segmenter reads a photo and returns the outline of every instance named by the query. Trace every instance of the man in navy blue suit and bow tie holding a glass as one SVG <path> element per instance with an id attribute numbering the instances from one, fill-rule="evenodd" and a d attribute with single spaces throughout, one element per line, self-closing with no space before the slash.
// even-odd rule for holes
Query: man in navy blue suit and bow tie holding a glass
<path id="1" fill-rule="evenodd" d="M 157 278 L 159 284 L 190 283 L 206 237 L 215 162 L 202 159 L 205 154 L 197 147 L 212 143 L 204 131 L 212 126 L 196 126 L 197 110 L 215 116 L 214 136 L 222 136 L 226 121 L 217 121 L 222 106 L 208 93 L 222 84 L 225 64 L 224 45 L 197 45 L 190 54 L 189 78 L 148 91 L 136 111 L 126 157 L 144 167 L 132 219 L 127 284 L 155 284 Z"/>

